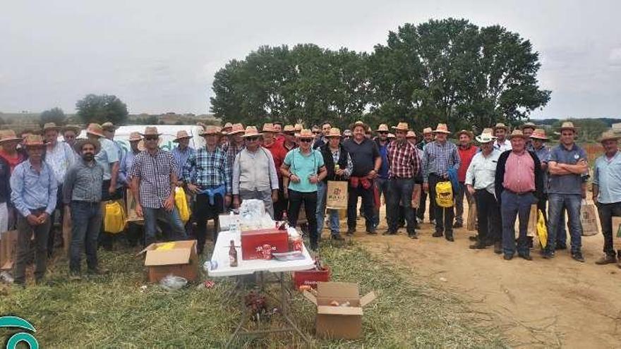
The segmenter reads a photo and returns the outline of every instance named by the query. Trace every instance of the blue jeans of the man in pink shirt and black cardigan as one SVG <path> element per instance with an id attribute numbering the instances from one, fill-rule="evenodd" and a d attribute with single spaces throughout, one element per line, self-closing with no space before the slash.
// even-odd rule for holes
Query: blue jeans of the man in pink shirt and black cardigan
<path id="1" fill-rule="evenodd" d="M 529 243 L 526 231 L 529 228 L 531 204 L 535 203 L 532 193 L 517 195 L 504 190 L 500 195 L 500 212 L 502 213 L 502 250 L 505 255 L 515 254 L 515 219 L 519 216 L 519 236 L 517 238 L 517 252 L 520 255 L 529 254 Z"/>

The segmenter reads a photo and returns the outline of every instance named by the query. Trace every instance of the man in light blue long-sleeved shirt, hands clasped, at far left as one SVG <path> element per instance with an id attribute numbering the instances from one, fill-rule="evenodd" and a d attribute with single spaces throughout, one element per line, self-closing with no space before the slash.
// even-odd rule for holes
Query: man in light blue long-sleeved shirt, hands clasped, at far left
<path id="1" fill-rule="evenodd" d="M 47 269 L 47 235 L 50 216 L 56 209 L 58 180 L 52 167 L 43 161 L 45 143 L 40 135 L 28 135 L 23 141 L 28 160 L 11 174 L 11 202 L 18 211 L 15 283 L 25 286 L 25 269 L 30 240 L 35 235 L 35 281 L 40 283 Z"/>

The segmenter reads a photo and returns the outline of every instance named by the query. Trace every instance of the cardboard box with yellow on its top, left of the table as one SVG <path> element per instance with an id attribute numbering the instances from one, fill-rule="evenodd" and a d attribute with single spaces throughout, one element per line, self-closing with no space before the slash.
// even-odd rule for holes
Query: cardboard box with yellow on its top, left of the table
<path id="1" fill-rule="evenodd" d="M 159 282 L 161 278 L 169 274 L 182 276 L 188 281 L 198 279 L 196 240 L 152 243 L 138 252 L 138 255 L 143 253 L 146 254 L 145 267 L 147 267 L 149 282 Z"/>

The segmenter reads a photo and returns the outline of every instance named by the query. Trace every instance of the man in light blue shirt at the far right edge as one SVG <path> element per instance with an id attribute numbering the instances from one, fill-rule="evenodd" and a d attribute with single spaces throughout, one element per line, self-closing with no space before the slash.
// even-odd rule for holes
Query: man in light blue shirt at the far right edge
<path id="1" fill-rule="evenodd" d="M 619 135 L 606 131 L 600 137 L 604 154 L 598 157 L 593 168 L 593 202 L 596 202 L 604 236 L 604 257 L 596 264 L 617 263 L 613 247 L 613 216 L 621 216 L 621 154 Z M 621 263 L 617 264 L 621 268 Z"/>

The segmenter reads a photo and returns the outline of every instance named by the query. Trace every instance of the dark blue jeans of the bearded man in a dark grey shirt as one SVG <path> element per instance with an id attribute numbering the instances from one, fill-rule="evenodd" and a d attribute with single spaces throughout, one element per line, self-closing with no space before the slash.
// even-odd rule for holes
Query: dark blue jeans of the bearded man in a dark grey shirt
<path id="1" fill-rule="evenodd" d="M 97 240 L 101 228 L 101 202 L 71 202 L 71 245 L 69 247 L 69 270 L 71 272 L 80 273 L 82 250 L 86 252 L 88 270 L 97 269 Z"/>

